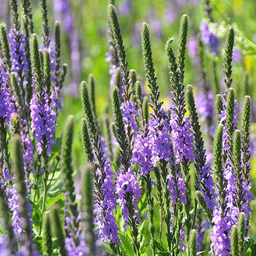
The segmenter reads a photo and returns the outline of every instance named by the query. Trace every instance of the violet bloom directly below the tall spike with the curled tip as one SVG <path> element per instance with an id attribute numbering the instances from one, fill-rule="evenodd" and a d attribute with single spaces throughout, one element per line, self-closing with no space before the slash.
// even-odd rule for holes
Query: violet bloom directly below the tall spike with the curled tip
<path id="1" fill-rule="evenodd" d="M 183 158 L 193 162 L 194 161 L 194 145 L 193 132 L 191 130 L 190 118 L 183 117 L 179 120 L 177 113 L 174 111 L 171 114 L 170 126 L 172 127 L 172 138 L 174 146 L 174 154 L 176 162 L 181 162 Z M 182 126 L 178 123 L 182 122 Z"/>

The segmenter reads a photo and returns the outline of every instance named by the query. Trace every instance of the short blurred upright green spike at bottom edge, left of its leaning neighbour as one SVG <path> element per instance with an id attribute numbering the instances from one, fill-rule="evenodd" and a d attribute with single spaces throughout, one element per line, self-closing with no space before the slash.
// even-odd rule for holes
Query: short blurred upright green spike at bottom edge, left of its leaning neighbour
<path id="1" fill-rule="evenodd" d="M 51 256 L 52 255 L 52 230 L 50 227 L 50 214 L 49 212 L 44 212 L 44 218 L 42 221 L 42 255 Z"/>

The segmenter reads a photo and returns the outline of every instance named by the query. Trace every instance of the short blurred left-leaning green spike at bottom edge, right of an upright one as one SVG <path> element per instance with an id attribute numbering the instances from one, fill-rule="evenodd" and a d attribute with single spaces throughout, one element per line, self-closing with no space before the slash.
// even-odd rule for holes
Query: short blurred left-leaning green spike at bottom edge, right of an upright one
<path id="1" fill-rule="evenodd" d="M 55 235 L 57 236 L 57 243 L 60 249 L 60 255 L 67 256 L 66 249 L 65 249 L 65 238 L 63 234 L 63 225 L 62 225 L 62 221 L 60 220 L 58 206 L 57 205 L 53 206 L 50 211 L 51 211 L 51 224 L 52 224 L 52 227 L 54 228 Z"/>

